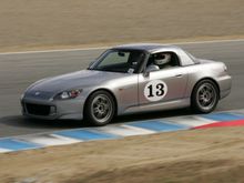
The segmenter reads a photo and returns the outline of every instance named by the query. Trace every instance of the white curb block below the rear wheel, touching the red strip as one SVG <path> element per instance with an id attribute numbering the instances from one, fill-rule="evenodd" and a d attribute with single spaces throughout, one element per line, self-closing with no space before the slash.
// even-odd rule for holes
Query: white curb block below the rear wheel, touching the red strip
<path id="1" fill-rule="evenodd" d="M 204 125 L 204 124 L 210 124 L 210 123 L 216 122 L 216 121 L 204 119 L 204 118 L 201 118 L 197 115 L 183 116 L 183 118 L 171 118 L 171 119 L 166 119 L 166 120 L 174 122 L 174 123 L 177 123 L 177 124 L 187 125 L 190 128 L 195 128 L 199 125 Z"/>

